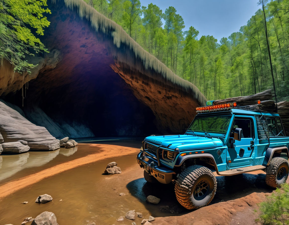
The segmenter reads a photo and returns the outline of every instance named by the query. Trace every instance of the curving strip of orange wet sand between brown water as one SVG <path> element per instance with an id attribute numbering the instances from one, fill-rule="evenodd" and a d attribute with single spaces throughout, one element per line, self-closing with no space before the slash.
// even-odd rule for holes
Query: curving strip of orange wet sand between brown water
<path id="1" fill-rule="evenodd" d="M 79 167 L 89 163 L 94 163 L 110 157 L 124 156 L 139 152 L 138 148 L 123 147 L 119 145 L 107 145 L 107 144 L 79 144 L 79 145 L 89 145 L 91 147 L 99 148 L 101 152 L 89 154 L 87 156 L 77 158 L 72 161 L 68 161 L 66 163 L 61 163 L 48 169 L 44 169 L 35 174 L 31 174 L 29 176 L 25 176 L 23 178 L 5 183 L 0 186 L 0 190 L 2 190 L 0 192 L 0 199 L 10 195 L 15 191 L 18 191 L 29 185 L 37 183 L 44 178 L 54 176 L 56 174 L 73 169 L 75 167 Z"/>

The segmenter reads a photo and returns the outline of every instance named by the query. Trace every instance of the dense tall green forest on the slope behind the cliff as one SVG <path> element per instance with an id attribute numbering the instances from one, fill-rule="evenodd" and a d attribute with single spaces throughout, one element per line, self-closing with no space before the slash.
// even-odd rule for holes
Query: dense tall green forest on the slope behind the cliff
<path id="1" fill-rule="evenodd" d="M 247 25 L 219 43 L 210 35 L 198 40 L 199 31 L 185 27 L 173 6 L 162 12 L 153 3 L 141 6 L 139 0 L 85 1 L 210 100 L 273 89 L 268 40 L 277 100 L 288 98 L 289 0 L 264 1 L 268 39 L 261 0 L 261 9 Z"/>

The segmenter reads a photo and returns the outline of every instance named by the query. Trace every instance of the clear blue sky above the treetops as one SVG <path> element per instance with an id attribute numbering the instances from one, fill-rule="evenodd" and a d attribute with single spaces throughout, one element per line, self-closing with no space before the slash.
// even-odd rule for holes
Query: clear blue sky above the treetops
<path id="1" fill-rule="evenodd" d="M 153 3 L 164 12 L 169 6 L 175 7 L 185 23 L 185 29 L 190 26 L 203 35 L 213 35 L 218 43 L 222 37 L 228 37 L 238 32 L 240 27 L 261 8 L 257 0 L 140 0 L 141 5 Z M 164 21 L 163 21 L 164 23 Z"/>

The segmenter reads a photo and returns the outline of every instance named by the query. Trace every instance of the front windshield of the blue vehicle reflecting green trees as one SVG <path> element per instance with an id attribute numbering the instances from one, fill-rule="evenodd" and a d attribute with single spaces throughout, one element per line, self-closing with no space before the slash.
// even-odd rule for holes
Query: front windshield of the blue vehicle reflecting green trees
<path id="1" fill-rule="evenodd" d="M 196 117 L 188 131 L 226 134 L 231 120 L 229 116 Z"/>

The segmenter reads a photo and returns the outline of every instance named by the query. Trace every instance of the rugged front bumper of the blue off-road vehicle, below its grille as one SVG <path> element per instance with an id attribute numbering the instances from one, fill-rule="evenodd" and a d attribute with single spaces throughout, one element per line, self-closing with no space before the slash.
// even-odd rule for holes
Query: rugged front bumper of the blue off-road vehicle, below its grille
<path id="1" fill-rule="evenodd" d="M 142 158 L 143 152 L 146 154 L 146 157 L 149 161 L 144 161 Z M 140 167 L 144 168 L 148 173 L 154 176 L 160 183 L 168 184 L 173 180 L 173 174 L 176 174 L 173 170 L 170 170 L 166 167 L 158 166 L 158 160 L 152 157 L 145 151 L 141 151 L 137 156 L 138 164 Z"/>

